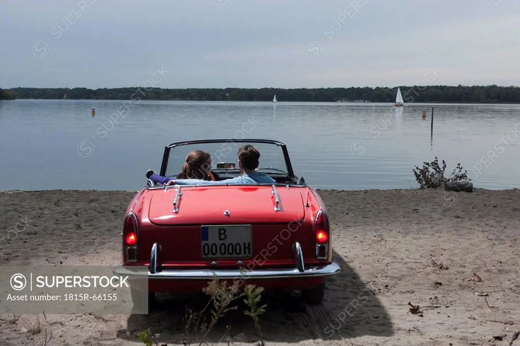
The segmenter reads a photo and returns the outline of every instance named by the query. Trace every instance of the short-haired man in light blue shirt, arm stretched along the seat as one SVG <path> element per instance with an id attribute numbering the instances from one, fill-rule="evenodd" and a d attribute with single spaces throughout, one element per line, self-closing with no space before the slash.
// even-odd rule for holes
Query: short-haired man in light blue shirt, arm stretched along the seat
<path id="1" fill-rule="evenodd" d="M 240 175 L 221 181 L 205 181 L 199 179 L 177 179 L 166 185 L 213 185 L 213 184 L 276 184 L 276 181 L 264 173 L 255 172 L 258 168 L 260 152 L 252 145 L 244 145 L 238 149 L 238 168 Z"/>

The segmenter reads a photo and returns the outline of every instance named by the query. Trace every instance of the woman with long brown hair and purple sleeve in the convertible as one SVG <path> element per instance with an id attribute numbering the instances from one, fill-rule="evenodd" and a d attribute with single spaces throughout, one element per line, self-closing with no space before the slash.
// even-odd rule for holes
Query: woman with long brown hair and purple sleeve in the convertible
<path id="1" fill-rule="evenodd" d="M 175 179 L 202 179 L 207 181 L 215 180 L 213 174 L 210 172 L 210 169 L 210 154 L 202 150 L 193 150 L 186 156 L 183 169 Z M 166 185 L 168 185 L 169 182 L 173 183 L 175 180 L 174 178 L 168 178 L 159 174 L 152 174 L 150 175 L 149 179 L 154 183 L 161 183 Z"/>

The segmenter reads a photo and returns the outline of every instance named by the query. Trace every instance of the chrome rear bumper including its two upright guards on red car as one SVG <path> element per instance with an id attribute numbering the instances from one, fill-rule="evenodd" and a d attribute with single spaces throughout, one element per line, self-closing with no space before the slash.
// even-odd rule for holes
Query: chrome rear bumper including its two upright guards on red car
<path id="1" fill-rule="evenodd" d="M 296 278 L 318 278 L 335 275 L 341 271 L 340 266 L 332 262 L 327 265 L 305 267 L 303 252 L 300 244 L 293 244 L 295 267 L 255 269 L 251 271 L 227 270 L 227 269 L 165 269 L 160 264 L 161 246 L 155 243 L 150 253 L 150 265 L 148 268 L 142 266 L 118 265 L 114 268 L 115 275 L 134 278 L 148 279 L 174 279 L 174 280 L 221 280 L 232 279 L 296 279 Z"/>

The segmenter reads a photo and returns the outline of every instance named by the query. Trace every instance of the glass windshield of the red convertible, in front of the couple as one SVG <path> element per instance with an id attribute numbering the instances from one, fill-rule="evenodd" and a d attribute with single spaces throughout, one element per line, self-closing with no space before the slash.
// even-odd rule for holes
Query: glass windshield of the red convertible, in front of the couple
<path id="1" fill-rule="evenodd" d="M 280 146 L 269 143 L 237 143 L 230 140 L 225 143 L 188 144 L 172 148 L 168 158 L 166 176 L 177 176 L 183 168 L 186 156 L 193 150 L 203 150 L 210 154 L 211 169 L 213 171 L 237 172 L 238 174 L 238 149 L 248 144 L 254 146 L 260 152 L 258 172 L 287 174 L 287 166 L 285 165 L 285 158 Z M 218 163 L 233 163 L 235 164 L 235 169 L 217 168 Z"/>

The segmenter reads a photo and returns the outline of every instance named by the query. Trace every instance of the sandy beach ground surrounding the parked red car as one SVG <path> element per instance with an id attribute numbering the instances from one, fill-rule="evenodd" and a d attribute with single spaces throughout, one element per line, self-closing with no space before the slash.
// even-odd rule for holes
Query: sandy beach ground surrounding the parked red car
<path id="1" fill-rule="evenodd" d="M 302 305 L 295 294 L 268 297 L 266 344 L 508 345 L 520 330 L 520 190 L 318 192 L 342 272 L 328 280 L 322 305 Z M 0 193 L 1 265 L 119 264 L 133 196 Z M 359 303 L 360 296 L 368 298 Z M 409 302 L 422 313 L 411 313 Z M 149 315 L 1 315 L 0 344 L 142 345 L 136 334 L 148 327 L 160 344 L 183 344 L 187 304 L 196 302 L 171 299 Z M 207 341 L 256 344 L 258 337 L 251 318 L 235 311 Z"/>

